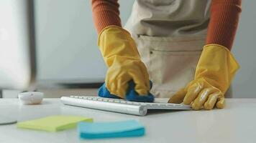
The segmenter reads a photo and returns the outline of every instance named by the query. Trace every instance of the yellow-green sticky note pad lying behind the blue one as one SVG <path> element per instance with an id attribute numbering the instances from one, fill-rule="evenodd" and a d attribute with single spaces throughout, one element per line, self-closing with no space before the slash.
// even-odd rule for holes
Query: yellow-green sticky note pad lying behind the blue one
<path id="1" fill-rule="evenodd" d="M 56 132 L 76 127 L 78 122 L 93 122 L 92 118 L 56 115 L 24 122 L 18 122 L 17 127 L 25 129 L 38 129 L 48 132 Z"/>

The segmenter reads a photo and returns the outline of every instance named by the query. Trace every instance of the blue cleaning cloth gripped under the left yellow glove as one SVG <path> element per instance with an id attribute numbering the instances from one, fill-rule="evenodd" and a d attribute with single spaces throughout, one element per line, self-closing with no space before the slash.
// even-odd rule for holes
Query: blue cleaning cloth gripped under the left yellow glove
<path id="1" fill-rule="evenodd" d="M 147 95 L 139 95 L 135 90 L 135 84 L 133 81 L 130 81 L 128 83 L 128 89 L 125 96 L 125 99 L 131 102 L 154 102 L 154 96 L 149 92 Z M 150 81 L 150 89 L 152 88 L 152 82 Z M 104 98 L 114 98 L 114 99 L 120 99 L 120 97 L 117 97 L 114 94 L 110 94 L 109 90 L 106 88 L 106 84 L 104 83 L 98 91 L 99 97 Z"/>

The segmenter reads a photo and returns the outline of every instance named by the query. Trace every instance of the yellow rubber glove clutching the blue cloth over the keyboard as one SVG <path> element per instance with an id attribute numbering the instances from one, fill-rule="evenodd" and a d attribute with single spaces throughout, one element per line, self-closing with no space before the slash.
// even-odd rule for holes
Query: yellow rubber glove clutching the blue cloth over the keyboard
<path id="1" fill-rule="evenodd" d="M 99 34 L 98 46 L 109 67 L 105 83 L 111 94 L 124 98 L 130 80 L 134 81 L 138 94 L 148 94 L 149 75 L 128 31 L 119 26 L 107 26 Z"/>

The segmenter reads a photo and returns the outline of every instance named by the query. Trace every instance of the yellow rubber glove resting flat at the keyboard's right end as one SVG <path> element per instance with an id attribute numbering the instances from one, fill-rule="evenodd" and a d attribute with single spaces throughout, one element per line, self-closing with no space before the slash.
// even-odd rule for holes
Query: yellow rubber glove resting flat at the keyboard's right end
<path id="1" fill-rule="evenodd" d="M 184 89 L 180 89 L 169 103 L 191 104 L 195 110 L 224 108 L 224 94 L 227 92 L 239 64 L 224 46 L 209 44 L 204 46 L 196 66 L 196 74 Z"/>

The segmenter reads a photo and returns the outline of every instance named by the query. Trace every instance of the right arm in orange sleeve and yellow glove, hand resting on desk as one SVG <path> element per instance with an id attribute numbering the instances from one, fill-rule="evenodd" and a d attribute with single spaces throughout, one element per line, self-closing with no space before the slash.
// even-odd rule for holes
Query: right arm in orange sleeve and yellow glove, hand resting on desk
<path id="1" fill-rule="evenodd" d="M 193 109 L 224 108 L 227 92 L 239 64 L 230 52 L 237 30 L 241 0 L 213 0 L 211 20 L 193 81 L 180 89 L 171 103 L 191 104 Z"/>

